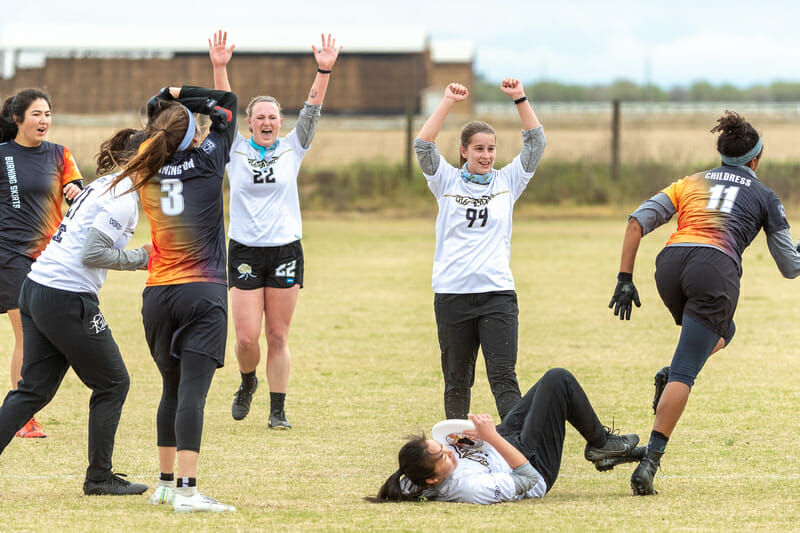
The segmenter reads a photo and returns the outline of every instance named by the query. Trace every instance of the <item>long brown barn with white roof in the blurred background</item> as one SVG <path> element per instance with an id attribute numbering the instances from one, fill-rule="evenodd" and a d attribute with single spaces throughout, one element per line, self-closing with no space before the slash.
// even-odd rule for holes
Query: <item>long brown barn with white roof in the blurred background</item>
<path id="1" fill-rule="evenodd" d="M 185 33 L 154 30 L 143 36 L 129 29 L 70 27 L 42 40 L 41 34 L 11 27 L 0 40 L 0 93 L 44 88 L 58 113 L 135 111 L 164 85 L 213 84 L 210 35 Z M 296 111 L 315 75 L 311 45 L 319 45 L 320 34 L 309 28 L 271 31 L 269 38 L 261 33 L 228 32 L 229 43 L 236 45 L 228 73 L 240 109 L 253 96 L 272 95 L 287 112 Z M 416 28 L 341 29 L 333 35 L 344 48 L 325 98 L 326 113 L 420 113 L 426 95 L 441 95 L 447 82 L 474 80 L 470 43 L 431 42 Z"/>

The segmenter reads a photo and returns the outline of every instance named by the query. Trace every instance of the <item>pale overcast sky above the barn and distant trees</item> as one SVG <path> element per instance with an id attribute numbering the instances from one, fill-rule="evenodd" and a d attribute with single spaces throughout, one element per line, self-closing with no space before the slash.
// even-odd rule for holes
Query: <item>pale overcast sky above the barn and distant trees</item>
<path id="1" fill-rule="evenodd" d="M 262 29 L 265 36 L 282 25 L 308 26 L 315 32 L 380 27 L 391 40 L 392 25 L 399 25 L 419 27 L 435 41 L 472 42 L 476 72 L 493 81 L 513 76 L 526 82 L 548 79 L 588 85 L 624 78 L 663 88 L 698 80 L 738 87 L 800 81 L 800 2 L 790 0 L 35 0 L 32 4 L 0 19 L 0 41 L 10 25 L 22 24 L 35 27 L 37 35 L 49 33 L 53 25 L 133 27 L 141 31 L 143 42 L 153 46 L 158 45 L 161 31 L 204 39 L 217 27 L 231 29 L 232 38 L 236 28 L 245 27 Z M 180 8 L 186 5 L 191 9 Z M 346 32 L 337 37 L 346 50 Z"/>

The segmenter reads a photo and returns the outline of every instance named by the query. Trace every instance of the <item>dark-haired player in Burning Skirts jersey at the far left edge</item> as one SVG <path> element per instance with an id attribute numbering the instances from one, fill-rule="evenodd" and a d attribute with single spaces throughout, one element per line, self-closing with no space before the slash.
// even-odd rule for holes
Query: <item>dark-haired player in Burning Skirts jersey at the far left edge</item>
<path id="1" fill-rule="evenodd" d="M 36 89 L 9 97 L 0 111 L 0 313 L 14 331 L 12 389 L 22 367 L 20 287 L 61 221 L 62 194 L 72 200 L 82 186 L 69 150 L 44 140 L 50 111 L 50 97 Z M 18 437 L 47 436 L 35 419 L 24 422 Z"/>

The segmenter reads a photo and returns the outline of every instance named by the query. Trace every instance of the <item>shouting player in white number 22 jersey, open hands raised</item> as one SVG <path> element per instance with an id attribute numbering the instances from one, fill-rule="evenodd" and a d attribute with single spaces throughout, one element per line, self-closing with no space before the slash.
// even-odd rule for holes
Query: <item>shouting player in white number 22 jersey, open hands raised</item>
<path id="1" fill-rule="evenodd" d="M 227 65 L 234 46 L 226 46 L 227 32 L 208 40 L 214 67 L 214 86 L 230 91 Z M 279 137 L 281 106 L 271 96 L 256 96 L 247 106 L 251 137 L 236 135 L 231 147 L 228 179 L 231 184 L 231 227 L 228 284 L 236 330 L 236 359 L 242 383 L 231 414 L 242 420 L 258 386 L 261 360 L 261 322 L 267 338 L 267 382 L 270 391 L 269 427 L 289 429 L 284 402 L 289 385 L 289 325 L 303 286 L 303 236 L 297 174 L 311 147 L 322 102 L 336 58 L 342 47 L 322 36 L 322 47 L 311 47 L 317 74 L 295 129 Z"/>

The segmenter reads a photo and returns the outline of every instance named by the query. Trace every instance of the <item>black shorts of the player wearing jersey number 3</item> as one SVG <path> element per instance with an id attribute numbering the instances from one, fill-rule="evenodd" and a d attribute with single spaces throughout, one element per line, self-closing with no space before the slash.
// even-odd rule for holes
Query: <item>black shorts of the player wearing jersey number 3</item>
<path id="1" fill-rule="evenodd" d="M 158 368 L 172 370 L 183 352 L 225 364 L 228 294 L 219 283 L 145 287 L 142 318 L 147 344 Z"/>

